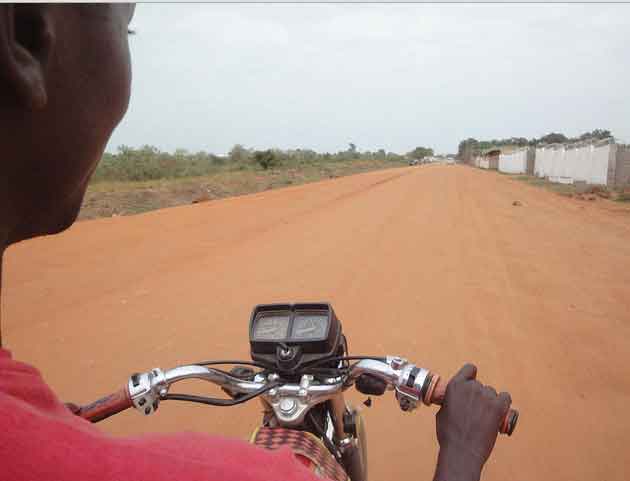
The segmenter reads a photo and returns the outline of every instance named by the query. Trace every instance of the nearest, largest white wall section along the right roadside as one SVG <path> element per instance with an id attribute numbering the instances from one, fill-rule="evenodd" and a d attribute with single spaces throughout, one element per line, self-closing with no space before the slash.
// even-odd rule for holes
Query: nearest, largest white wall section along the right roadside
<path id="1" fill-rule="evenodd" d="M 617 145 L 610 141 L 539 147 L 536 149 L 534 174 L 552 182 L 614 184 L 616 153 Z"/>

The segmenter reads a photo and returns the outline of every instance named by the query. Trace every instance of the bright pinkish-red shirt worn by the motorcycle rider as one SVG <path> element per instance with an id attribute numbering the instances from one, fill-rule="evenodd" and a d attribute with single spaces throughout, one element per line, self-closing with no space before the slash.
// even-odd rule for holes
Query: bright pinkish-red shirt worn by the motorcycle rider
<path id="1" fill-rule="evenodd" d="M 288 449 L 201 434 L 116 438 L 72 414 L 0 349 L 2 481 L 321 481 Z"/>

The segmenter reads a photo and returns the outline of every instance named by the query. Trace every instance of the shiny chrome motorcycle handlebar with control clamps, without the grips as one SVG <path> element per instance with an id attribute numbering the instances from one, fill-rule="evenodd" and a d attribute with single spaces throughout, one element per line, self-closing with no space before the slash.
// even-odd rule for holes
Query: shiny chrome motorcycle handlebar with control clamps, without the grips
<path id="1" fill-rule="evenodd" d="M 304 374 L 299 384 L 280 384 L 262 393 L 261 397 L 273 408 L 282 425 L 296 426 L 304 420 L 309 409 L 348 389 L 364 374 L 383 381 L 389 390 L 395 390 L 403 411 L 415 409 L 419 401 L 430 404 L 429 390 L 435 384 L 431 382 L 433 374 L 395 356 L 388 356 L 385 362 L 363 359 L 354 364 L 347 374 L 323 381 Z M 253 381 L 247 381 L 199 365 L 179 366 L 168 371 L 156 368 L 131 376 L 128 382 L 129 396 L 136 409 L 149 415 L 157 409 L 160 400 L 167 397 L 173 384 L 186 379 L 212 382 L 231 394 L 255 394 L 269 383 L 278 383 L 280 376 L 276 373 L 266 376 L 258 373 Z"/>

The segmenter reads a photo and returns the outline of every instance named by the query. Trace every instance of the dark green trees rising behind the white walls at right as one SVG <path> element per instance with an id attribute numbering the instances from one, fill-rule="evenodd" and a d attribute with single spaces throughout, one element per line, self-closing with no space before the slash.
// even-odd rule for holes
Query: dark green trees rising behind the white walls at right
<path id="1" fill-rule="evenodd" d="M 477 155 L 493 147 L 504 147 L 514 145 L 518 147 L 536 146 L 541 144 L 566 144 L 586 140 L 601 140 L 612 137 L 610 130 L 595 129 L 591 132 L 585 132 L 577 137 L 568 137 L 563 133 L 551 132 L 539 138 L 526 139 L 525 137 L 509 137 L 505 139 L 477 140 L 468 138 L 459 143 L 457 156 L 460 159 Z"/>

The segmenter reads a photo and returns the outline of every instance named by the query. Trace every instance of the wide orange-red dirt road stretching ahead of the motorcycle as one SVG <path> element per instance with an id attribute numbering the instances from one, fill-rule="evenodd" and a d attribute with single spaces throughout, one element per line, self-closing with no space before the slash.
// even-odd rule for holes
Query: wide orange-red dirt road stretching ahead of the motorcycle
<path id="1" fill-rule="evenodd" d="M 459 166 L 373 172 L 81 222 L 13 247 L 2 329 L 64 400 L 87 402 L 136 370 L 247 358 L 256 303 L 330 300 L 353 353 L 402 354 L 443 375 L 474 361 L 482 381 L 511 391 L 519 427 L 484 479 L 621 481 L 629 239 L 630 216 L 609 202 Z M 258 410 L 173 402 L 101 426 L 246 438 Z M 375 400 L 372 480 L 431 479 L 434 412 Z"/>

